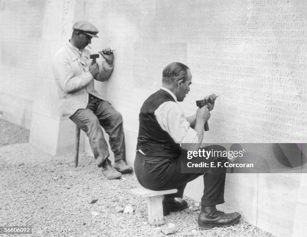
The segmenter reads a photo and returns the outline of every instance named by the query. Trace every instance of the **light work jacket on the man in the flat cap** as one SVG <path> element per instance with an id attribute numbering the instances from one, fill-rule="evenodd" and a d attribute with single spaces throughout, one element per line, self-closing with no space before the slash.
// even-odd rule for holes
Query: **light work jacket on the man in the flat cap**
<path id="1" fill-rule="evenodd" d="M 113 64 L 103 61 L 99 65 L 98 75 L 93 78 L 89 72 L 92 62 L 89 55 L 88 50 L 78 50 L 67 42 L 53 58 L 53 72 L 58 87 L 61 116 L 71 116 L 78 109 L 86 108 L 89 93 L 103 99 L 94 88 L 94 79 L 107 80 L 113 71 Z"/>

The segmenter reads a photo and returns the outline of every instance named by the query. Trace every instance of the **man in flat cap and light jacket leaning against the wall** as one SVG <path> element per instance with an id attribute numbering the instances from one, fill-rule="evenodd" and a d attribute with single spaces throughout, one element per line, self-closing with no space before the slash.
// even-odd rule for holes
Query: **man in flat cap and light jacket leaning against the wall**
<path id="1" fill-rule="evenodd" d="M 60 97 L 62 116 L 68 116 L 89 138 L 89 143 L 98 167 L 108 179 L 121 177 L 121 173 L 132 173 L 125 161 L 122 117 L 112 105 L 95 90 L 94 79 L 107 80 L 113 71 L 114 55 L 110 48 L 102 50 L 104 61 L 92 63 L 90 52 L 85 47 L 97 36 L 97 28 L 88 21 L 73 25 L 72 37 L 54 56 L 53 70 Z M 111 165 L 102 126 L 109 135 L 114 153 Z"/>

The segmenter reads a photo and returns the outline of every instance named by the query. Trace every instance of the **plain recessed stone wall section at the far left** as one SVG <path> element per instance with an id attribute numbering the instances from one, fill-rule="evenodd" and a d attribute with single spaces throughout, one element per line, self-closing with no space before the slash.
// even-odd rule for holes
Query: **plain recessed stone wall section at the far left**
<path id="1" fill-rule="evenodd" d="M 30 128 L 45 1 L 0 1 L 0 117 Z"/>

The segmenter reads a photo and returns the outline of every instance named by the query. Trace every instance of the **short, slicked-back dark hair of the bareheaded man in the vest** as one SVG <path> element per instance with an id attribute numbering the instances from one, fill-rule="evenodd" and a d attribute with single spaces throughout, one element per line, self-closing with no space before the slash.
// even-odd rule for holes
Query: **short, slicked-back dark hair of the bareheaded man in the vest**
<path id="1" fill-rule="evenodd" d="M 189 67 L 183 63 L 173 62 L 163 69 L 162 82 L 167 84 L 175 84 L 179 80 L 185 82 L 188 78 Z"/>

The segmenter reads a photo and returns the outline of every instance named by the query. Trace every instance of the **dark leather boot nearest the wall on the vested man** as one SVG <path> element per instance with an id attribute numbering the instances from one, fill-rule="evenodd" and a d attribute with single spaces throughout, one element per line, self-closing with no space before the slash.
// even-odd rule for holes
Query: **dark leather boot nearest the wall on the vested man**
<path id="1" fill-rule="evenodd" d="M 218 211 L 215 206 L 202 206 L 198 216 L 198 226 L 201 229 L 212 227 L 225 227 L 239 221 L 241 215 L 238 212 L 225 213 Z"/>

